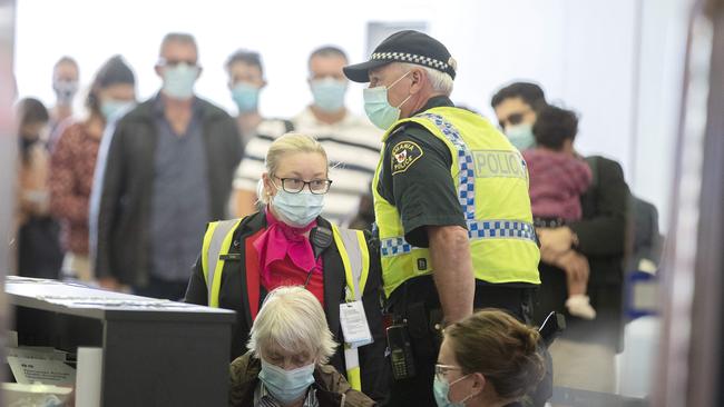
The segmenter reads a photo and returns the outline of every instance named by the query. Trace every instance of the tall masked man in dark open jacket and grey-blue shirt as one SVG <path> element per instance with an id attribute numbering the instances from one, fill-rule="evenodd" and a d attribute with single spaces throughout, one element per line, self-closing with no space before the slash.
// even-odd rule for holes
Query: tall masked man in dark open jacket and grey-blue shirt
<path id="1" fill-rule="evenodd" d="M 194 92 L 202 68 L 193 36 L 167 34 L 155 69 L 160 91 L 119 119 L 110 138 L 91 248 L 101 286 L 177 300 L 195 236 L 226 215 L 243 152 L 234 119 Z"/>

